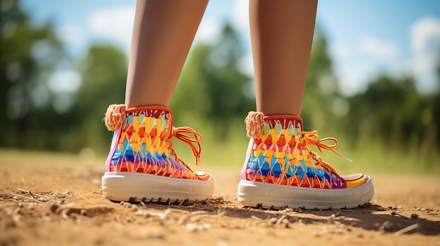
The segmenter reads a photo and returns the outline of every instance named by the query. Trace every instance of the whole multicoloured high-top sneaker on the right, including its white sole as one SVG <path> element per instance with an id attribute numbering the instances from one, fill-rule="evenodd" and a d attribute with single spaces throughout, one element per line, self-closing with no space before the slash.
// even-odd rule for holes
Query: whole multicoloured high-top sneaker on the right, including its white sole
<path id="1" fill-rule="evenodd" d="M 245 122 L 251 139 L 238 184 L 238 200 L 243 205 L 339 209 L 358 207 L 373 198 L 369 176 L 338 175 L 309 149 L 316 146 L 340 156 L 333 149 L 336 139 L 318 140 L 316 131 L 304 132 L 299 116 L 250 112 Z"/>

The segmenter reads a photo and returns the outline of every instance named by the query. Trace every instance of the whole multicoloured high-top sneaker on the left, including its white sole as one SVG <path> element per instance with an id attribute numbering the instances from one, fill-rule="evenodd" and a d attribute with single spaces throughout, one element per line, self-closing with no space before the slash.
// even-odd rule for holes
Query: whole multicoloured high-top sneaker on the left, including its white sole
<path id="1" fill-rule="evenodd" d="M 211 175 L 193 172 L 172 145 L 173 137 L 188 144 L 195 164 L 200 165 L 202 136 L 191 128 L 174 128 L 169 108 L 126 110 L 123 104 L 112 104 L 105 125 L 115 131 L 102 178 L 102 189 L 110 200 L 175 202 L 206 200 L 212 195 Z"/>

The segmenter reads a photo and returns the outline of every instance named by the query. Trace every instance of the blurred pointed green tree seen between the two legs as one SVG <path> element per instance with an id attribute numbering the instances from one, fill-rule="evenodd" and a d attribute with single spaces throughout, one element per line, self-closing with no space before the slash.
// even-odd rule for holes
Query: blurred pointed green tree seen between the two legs
<path id="1" fill-rule="evenodd" d="M 238 68 L 244 50 L 238 34 L 225 25 L 214 44 L 196 46 L 186 62 L 176 87 L 172 108 L 179 115 L 200 118 L 212 125 L 219 139 L 236 118 L 240 121 L 254 109 L 254 98 L 245 95 L 250 77 Z"/>

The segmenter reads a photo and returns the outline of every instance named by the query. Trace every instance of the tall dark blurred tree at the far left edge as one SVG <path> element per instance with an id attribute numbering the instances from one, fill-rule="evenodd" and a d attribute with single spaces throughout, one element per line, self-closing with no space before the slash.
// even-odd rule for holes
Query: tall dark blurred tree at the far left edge
<path id="1" fill-rule="evenodd" d="M 45 147 L 51 125 L 44 121 L 56 118 L 46 81 L 63 48 L 50 22 L 35 27 L 18 1 L 0 5 L 0 127 L 7 129 L 0 146 Z"/>

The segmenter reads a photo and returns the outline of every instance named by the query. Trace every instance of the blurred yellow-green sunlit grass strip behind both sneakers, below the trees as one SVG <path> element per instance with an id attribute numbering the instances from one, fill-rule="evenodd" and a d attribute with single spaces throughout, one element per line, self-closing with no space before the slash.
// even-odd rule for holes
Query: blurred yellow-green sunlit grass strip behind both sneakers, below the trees
<path id="1" fill-rule="evenodd" d="M 203 136 L 201 167 L 195 167 L 193 153 L 186 144 L 174 139 L 174 147 L 179 157 L 194 170 L 210 168 L 230 168 L 238 172 L 245 160 L 249 138 L 246 137 L 244 123 L 233 124 L 224 142 L 219 141 L 214 130 L 207 126 L 197 125 Z M 321 137 L 321 135 L 320 135 Z M 322 136 L 325 137 L 325 136 Z M 440 175 L 440 156 L 432 147 L 413 146 L 410 150 L 398 146 L 387 146 L 373 137 L 358 139 L 356 144 L 349 144 L 348 136 L 335 133 L 339 146 L 336 150 L 343 158 L 325 151 L 319 153 L 323 160 L 333 165 L 341 175 L 363 172 L 383 175 Z M 110 146 L 110 139 L 109 139 Z M 94 153 L 91 149 L 80 153 L 53 153 L 46 151 L 24 151 L 17 149 L 0 149 L 0 163 L 28 163 L 32 165 L 101 165 L 104 169 L 107 153 Z M 1 166 L 1 165 L 0 165 Z M 237 174 L 238 175 L 238 174 Z"/>

